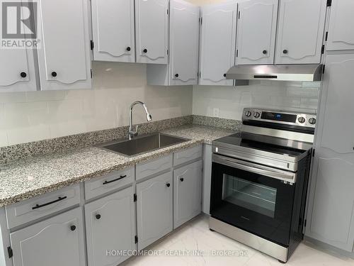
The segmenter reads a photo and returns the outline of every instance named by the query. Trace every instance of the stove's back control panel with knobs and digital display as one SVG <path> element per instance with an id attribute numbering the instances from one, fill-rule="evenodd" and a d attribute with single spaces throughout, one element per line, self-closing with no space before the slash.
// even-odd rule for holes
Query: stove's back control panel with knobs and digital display
<path id="1" fill-rule="evenodd" d="M 261 121 L 264 123 L 315 128 L 316 114 L 245 108 L 242 121 Z"/>

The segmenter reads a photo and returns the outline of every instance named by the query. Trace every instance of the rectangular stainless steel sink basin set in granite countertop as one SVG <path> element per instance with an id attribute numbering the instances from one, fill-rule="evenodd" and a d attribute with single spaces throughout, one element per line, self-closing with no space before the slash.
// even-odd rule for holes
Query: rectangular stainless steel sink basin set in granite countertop
<path id="1" fill-rule="evenodd" d="M 188 141 L 185 138 L 175 137 L 162 133 L 154 133 L 151 135 L 142 135 L 132 140 L 121 140 L 113 143 L 106 143 L 101 148 L 120 153 L 125 156 L 134 156 L 141 153 L 149 153 L 153 150 L 159 150 L 177 143 Z"/>

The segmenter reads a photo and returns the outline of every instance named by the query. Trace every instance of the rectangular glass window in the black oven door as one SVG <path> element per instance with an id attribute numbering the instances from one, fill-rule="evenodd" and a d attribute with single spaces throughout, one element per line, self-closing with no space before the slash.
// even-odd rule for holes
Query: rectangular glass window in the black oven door
<path id="1" fill-rule="evenodd" d="M 224 174 L 222 199 L 274 218 L 277 189 Z"/>

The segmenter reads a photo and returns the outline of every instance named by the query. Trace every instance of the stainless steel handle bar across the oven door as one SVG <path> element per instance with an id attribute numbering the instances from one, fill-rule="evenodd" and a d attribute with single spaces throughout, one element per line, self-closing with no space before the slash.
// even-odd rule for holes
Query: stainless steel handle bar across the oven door
<path id="1" fill-rule="evenodd" d="M 291 173 L 291 172 L 284 172 L 284 171 L 276 171 L 276 170 L 268 170 L 268 169 L 263 169 L 260 167 L 255 167 L 251 165 L 244 165 L 240 163 L 239 160 L 233 160 L 228 157 L 222 157 L 220 155 L 213 155 L 212 157 L 213 162 L 217 162 L 221 165 L 227 165 L 231 166 L 240 170 L 248 171 L 248 172 L 253 172 L 255 174 L 262 174 L 266 177 L 271 177 L 275 179 L 280 179 L 282 181 L 290 182 L 290 183 L 295 183 L 296 179 L 296 173 Z"/>

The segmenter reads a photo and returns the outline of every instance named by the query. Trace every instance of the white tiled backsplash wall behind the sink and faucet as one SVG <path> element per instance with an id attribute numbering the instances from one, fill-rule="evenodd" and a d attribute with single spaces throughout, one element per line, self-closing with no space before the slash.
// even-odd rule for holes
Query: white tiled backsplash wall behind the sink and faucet
<path id="1" fill-rule="evenodd" d="M 149 87 L 146 65 L 93 62 L 93 89 L 0 94 L 0 147 L 127 126 L 133 101 L 153 121 L 192 113 L 193 88 Z M 134 122 L 146 121 L 141 106 Z"/>

